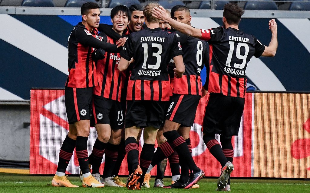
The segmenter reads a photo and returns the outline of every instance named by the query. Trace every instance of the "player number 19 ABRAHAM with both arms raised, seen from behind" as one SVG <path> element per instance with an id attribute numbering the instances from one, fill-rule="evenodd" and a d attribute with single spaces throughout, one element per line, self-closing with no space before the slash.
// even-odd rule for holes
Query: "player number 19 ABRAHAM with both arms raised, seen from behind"
<path id="1" fill-rule="evenodd" d="M 244 108 L 246 90 L 246 65 L 250 58 L 273 57 L 277 51 L 277 23 L 269 21 L 272 38 L 269 46 L 261 44 L 254 36 L 239 30 L 239 22 L 244 11 L 237 4 L 224 6 L 224 27 L 215 29 L 194 29 L 176 22 L 164 15 L 163 8 L 153 9 L 158 19 L 164 20 L 177 30 L 193 37 L 207 40 L 210 45 L 210 78 L 205 89 L 210 97 L 206 105 L 203 121 L 203 140 L 210 153 L 222 166 L 218 179 L 219 191 L 230 191 L 229 176 L 233 170 L 233 147 L 231 139 L 238 135 Z M 215 139 L 220 134 L 221 146 Z"/>

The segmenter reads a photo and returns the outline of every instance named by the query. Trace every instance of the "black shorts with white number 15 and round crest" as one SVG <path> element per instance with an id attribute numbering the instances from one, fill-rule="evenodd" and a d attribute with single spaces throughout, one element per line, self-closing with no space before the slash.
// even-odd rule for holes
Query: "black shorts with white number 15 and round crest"
<path id="1" fill-rule="evenodd" d="M 107 99 L 95 94 L 93 96 L 93 114 L 95 124 L 109 124 L 111 129 L 124 128 L 125 111 L 122 109 L 121 102 Z"/>

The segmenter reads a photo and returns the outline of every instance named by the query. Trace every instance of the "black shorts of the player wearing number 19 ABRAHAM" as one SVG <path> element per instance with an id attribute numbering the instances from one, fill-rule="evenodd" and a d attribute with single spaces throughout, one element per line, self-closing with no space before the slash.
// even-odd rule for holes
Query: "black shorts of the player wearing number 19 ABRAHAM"
<path id="1" fill-rule="evenodd" d="M 205 134 L 222 134 L 225 138 L 238 135 L 244 98 L 211 93 L 203 118 Z"/>

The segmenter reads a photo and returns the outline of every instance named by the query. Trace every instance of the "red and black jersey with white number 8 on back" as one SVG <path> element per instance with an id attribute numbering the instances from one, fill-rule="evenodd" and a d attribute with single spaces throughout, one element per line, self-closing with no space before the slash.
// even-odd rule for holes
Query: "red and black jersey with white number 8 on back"
<path id="1" fill-rule="evenodd" d="M 204 65 L 209 65 L 207 43 L 204 40 L 187 36 L 174 29 L 170 32 L 178 37 L 182 50 L 185 72 L 182 78 L 175 78 L 173 93 L 201 95 L 200 72 Z"/>

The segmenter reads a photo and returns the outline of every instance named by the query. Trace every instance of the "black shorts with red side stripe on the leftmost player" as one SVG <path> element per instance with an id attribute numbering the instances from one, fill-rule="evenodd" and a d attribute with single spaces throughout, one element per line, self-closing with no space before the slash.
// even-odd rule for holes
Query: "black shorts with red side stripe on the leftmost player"
<path id="1" fill-rule="evenodd" d="M 93 87 L 64 88 L 64 103 L 69 124 L 79 120 L 90 120 Z"/>

